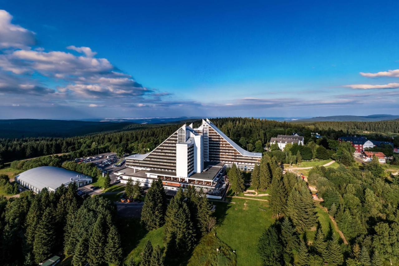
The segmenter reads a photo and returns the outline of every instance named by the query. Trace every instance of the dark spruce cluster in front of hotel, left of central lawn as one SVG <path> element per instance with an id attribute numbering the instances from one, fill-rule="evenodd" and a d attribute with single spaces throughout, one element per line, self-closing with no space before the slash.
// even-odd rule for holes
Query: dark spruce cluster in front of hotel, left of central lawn
<path id="1" fill-rule="evenodd" d="M 216 224 L 211 205 L 205 193 L 192 186 L 184 191 L 179 189 L 166 204 L 162 180 L 153 181 L 144 199 L 141 224 L 146 230 L 164 226 L 165 250 L 153 249 L 150 243 L 144 247 L 140 265 L 163 265 L 166 260 L 173 265 L 184 259 L 201 236 L 212 230 Z M 165 256 L 165 258 L 163 258 Z M 155 264 L 158 263 L 158 264 Z"/>

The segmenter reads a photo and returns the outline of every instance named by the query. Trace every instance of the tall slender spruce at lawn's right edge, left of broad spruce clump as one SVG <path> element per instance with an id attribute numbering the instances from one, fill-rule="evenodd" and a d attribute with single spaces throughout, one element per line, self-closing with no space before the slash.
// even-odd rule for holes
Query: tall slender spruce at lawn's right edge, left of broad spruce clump
<path id="1" fill-rule="evenodd" d="M 286 192 L 281 180 L 281 169 L 278 169 L 278 171 L 275 172 L 277 173 L 273 175 L 273 180 L 270 186 L 269 204 L 272 213 L 279 217 L 280 213 L 284 212 L 285 209 Z"/>

